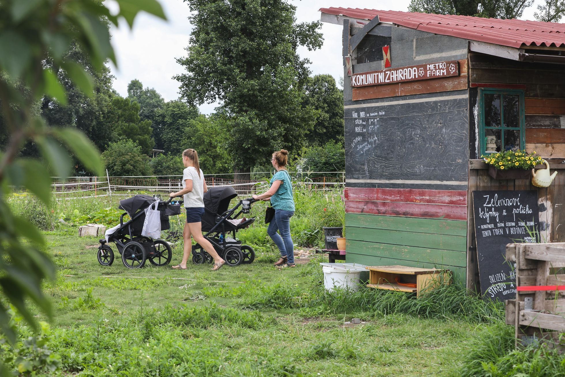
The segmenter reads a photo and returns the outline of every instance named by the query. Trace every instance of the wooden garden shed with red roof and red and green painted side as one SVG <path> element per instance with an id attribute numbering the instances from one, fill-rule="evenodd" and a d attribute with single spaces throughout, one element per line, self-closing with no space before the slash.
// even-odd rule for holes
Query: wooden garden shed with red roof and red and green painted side
<path id="1" fill-rule="evenodd" d="M 475 190 L 537 190 L 542 239 L 565 242 L 565 24 L 320 11 L 343 27 L 347 262 L 446 267 L 478 288 Z M 486 136 L 557 178 L 491 178 Z"/>

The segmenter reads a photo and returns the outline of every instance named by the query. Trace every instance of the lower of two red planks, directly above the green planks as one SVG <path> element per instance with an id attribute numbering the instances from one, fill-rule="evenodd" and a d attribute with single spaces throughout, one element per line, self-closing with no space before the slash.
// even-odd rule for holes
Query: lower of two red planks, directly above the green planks
<path id="1" fill-rule="evenodd" d="M 467 205 L 392 203 L 363 200 L 345 200 L 347 213 L 372 215 L 428 217 L 431 219 L 467 220 Z"/>

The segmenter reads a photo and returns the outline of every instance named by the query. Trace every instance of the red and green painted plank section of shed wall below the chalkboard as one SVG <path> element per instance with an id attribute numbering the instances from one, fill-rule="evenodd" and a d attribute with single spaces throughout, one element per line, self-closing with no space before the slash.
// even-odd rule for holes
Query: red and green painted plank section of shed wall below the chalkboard
<path id="1" fill-rule="evenodd" d="M 447 268 L 465 284 L 467 191 L 346 187 L 347 262 Z"/>

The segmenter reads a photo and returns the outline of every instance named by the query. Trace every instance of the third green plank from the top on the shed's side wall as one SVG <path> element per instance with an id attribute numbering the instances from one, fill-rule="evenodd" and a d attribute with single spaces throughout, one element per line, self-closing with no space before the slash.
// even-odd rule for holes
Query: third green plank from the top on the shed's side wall
<path id="1" fill-rule="evenodd" d="M 467 253 L 464 251 L 389 245 L 388 243 L 363 242 L 354 239 L 347 239 L 346 250 L 356 254 L 412 260 L 413 262 L 441 263 L 458 267 L 467 265 Z"/>

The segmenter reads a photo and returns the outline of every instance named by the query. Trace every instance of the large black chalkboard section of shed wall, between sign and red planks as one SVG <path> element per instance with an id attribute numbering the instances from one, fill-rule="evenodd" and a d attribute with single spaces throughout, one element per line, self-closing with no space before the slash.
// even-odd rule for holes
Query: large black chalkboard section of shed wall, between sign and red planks
<path id="1" fill-rule="evenodd" d="M 469 153 L 466 93 L 345 106 L 347 186 L 464 188 Z M 442 186 L 441 181 L 459 181 L 463 187 Z"/>

